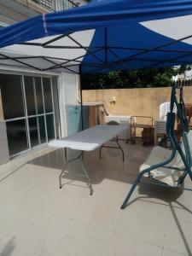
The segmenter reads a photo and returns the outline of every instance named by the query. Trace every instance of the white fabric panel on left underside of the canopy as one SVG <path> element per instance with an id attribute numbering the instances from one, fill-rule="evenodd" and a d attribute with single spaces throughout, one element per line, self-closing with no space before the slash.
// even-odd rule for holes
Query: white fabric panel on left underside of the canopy
<path id="1" fill-rule="evenodd" d="M 4 47 L 0 49 L 0 65 L 79 73 L 79 64 L 84 55 L 88 54 L 87 48 L 94 32 L 95 30 L 74 32 L 70 36 L 39 38 L 26 44 Z M 85 47 L 80 47 L 78 42 Z"/>

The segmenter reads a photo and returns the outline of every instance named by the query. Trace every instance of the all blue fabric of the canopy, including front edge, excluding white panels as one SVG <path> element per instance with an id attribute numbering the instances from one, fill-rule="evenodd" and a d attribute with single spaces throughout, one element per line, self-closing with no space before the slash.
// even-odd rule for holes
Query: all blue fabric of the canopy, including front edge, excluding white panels
<path id="1" fill-rule="evenodd" d="M 141 24 L 184 15 L 192 15 L 191 0 L 95 1 L 5 27 L 0 30 L 0 48 L 49 36 L 73 38 L 73 32 L 96 29 L 90 45 L 75 42 L 86 54 L 83 60 L 72 59 L 73 65 L 66 68 L 79 65 L 80 61 L 82 73 L 189 64 L 192 45 L 183 42 L 186 37 L 175 40 Z"/>

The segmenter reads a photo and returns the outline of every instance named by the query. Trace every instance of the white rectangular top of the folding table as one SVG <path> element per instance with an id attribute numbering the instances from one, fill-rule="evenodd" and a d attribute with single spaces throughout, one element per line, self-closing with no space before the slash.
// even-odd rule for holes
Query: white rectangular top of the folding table
<path id="1" fill-rule="evenodd" d="M 122 131 L 127 131 L 127 125 L 96 125 L 71 136 L 53 140 L 49 142 L 49 146 L 91 151 L 101 147 Z"/>

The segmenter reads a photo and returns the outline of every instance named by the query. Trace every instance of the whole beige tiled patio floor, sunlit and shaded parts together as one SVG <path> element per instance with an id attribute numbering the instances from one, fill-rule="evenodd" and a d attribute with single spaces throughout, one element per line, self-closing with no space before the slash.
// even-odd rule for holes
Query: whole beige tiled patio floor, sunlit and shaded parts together
<path id="1" fill-rule="evenodd" d="M 44 148 L 0 166 L 0 256 L 192 255 L 192 193 L 142 184 L 119 207 L 151 148 L 121 143 L 85 155 L 82 180 L 58 188 L 62 151 Z M 73 164 L 70 169 L 77 169 Z M 186 186 L 191 186 L 189 180 Z"/>

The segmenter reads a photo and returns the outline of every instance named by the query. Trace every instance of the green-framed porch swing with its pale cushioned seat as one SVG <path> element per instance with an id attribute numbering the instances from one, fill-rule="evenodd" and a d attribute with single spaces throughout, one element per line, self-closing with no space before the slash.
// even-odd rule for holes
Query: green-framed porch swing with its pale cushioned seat
<path id="1" fill-rule="evenodd" d="M 177 90 L 179 90 L 179 102 L 177 101 Z M 173 112 L 174 106 L 177 108 L 177 113 Z M 174 131 L 176 119 L 180 124 L 181 143 L 177 138 L 177 133 Z M 189 122 L 186 117 L 182 84 L 181 86 L 177 86 L 177 83 L 172 85 L 170 113 L 167 113 L 166 121 L 166 134 L 166 140 L 171 143 L 172 149 L 161 147 L 165 138 L 161 140 L 160 146 L 152 149 L 148 159 L 140 166 L 140 172 L 132 184 L 121 209 L 125 209 L 127 206 L 138 183 L 152 183 L 164 187 L 192 191 L 192 189 L 183 187 L 184 179 L 187 175 L 192 181 L 192 131 L 189 131 Z M 167 155 L 169 156 L 167 157 Z M 144 181 L 143 177 L 149 177 L 151 181 Z"/>

